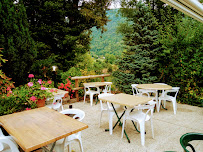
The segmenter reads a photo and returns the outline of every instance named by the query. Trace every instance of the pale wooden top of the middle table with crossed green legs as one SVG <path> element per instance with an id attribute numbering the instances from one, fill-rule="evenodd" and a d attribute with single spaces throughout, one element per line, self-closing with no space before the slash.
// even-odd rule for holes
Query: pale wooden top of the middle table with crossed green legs
<path id="1" fill-rule="evenodd" d="M 152 98 L 139 97 L 139 96 L 124 94 L 124 93 L 115 94 L 113 96 L 105 96 L 99 99 L 105 102 L 111 102 L 111 103 L 119 104 L 122 106 L 128 106 L 128 107 L 134 107 L 136 105 L 144 104 L 152 100 Z"/>

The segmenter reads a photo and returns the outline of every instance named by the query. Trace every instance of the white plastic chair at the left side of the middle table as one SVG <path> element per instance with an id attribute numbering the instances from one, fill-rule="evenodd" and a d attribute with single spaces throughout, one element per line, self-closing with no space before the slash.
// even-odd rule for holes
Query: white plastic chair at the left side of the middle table
<path id="1" fill-rule="evenodd" d="M 103 93 L 100 94 L 98 96 L 98 98 L 101 97 L 106 97 L 106 96 L 112 96 L 114 94 L 111 93 Z M 112 135 L 113 134 L 113 116 L 115 114 L 113 107 L 111 106 L 111 104 L 109 102 L 106 102 L 106 107 L 104 107 L 104 103 L 102 102 L 102 100 L 100 100 L 100 105 L 101 105 L 101 115 L 100 115 L 100 119 L 99 119 L 99 127 L 101 126 L 101 118 L 102 118 L 102 114 L 103 112 L 108 112 L 108 117 L 109 117 L 109 134 Z M 116 105 L 114 104 L 114 108 L 116 109 L 116 112 L 120 112 L 123 111 L 123 107 L 120 105 Z"/>

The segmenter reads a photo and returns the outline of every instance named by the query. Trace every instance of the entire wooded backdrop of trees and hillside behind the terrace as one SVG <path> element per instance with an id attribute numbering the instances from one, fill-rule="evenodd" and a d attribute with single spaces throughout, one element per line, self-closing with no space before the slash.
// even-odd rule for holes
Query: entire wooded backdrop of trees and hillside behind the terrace
<path id="1" fill-rule="evenodd" d="M 112 89 L 129 94 L 131 84 L 163 82 L 180 87 L 179 103 L 203 106 L 203 24 L 160 0 L 109 6 L 109 0 L 0 1 L 4 114 L 33 107 L 11 96 L 23 97 L 30 74 L 70 96 L 73 76 L 110 73 Z"/>

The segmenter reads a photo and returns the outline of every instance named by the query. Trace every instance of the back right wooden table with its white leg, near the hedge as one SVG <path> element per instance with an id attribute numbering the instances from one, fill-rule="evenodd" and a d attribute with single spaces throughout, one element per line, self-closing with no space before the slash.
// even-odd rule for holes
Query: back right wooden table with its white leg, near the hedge
<path id="1" fill-rule="evenodd" d="M 170 85 L 163 85 L 163 84 L 138 84 L 136 86 L 138 89 L 147 89 L 147 90 L 156 90 L 156 107 L 157 111 L 159 112 L 159 106 L 158 106 L 158 91 L 159 90 L 170 90 L 172 89 L 172 86 Z"/>

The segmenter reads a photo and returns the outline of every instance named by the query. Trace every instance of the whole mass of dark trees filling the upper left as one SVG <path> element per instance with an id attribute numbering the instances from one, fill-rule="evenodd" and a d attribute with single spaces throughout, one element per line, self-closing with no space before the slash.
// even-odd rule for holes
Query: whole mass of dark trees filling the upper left
<path id="1" fill-rule="evenodd" d="M 48 76 L 57 65 L 66 71 L 89 51 L 90 29 L 107 23 L 111 0 L 2 0 L 1 45 L 5 73 L 22 84 L 29 72 Z M 16 34 L 19 32 L 19 34 Z M 14 40 L 13 40 L 14 37 Z M 17 44 L 19 43 L 19 44 Z M 12 53 L 14 52 L 14 53 Z M 12 58 L 12 59 L 11 59 Z"/>

